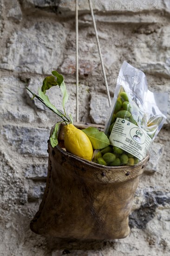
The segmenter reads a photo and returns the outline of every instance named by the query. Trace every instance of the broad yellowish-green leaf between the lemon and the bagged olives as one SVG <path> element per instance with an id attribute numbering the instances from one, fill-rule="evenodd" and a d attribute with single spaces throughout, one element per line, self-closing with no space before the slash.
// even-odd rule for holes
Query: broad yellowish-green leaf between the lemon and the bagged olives
<path id="1" fill-rule="evenodd" d="M 92 143 L 93 149 L 105 148 L 110 145 L 110 141 L 104 132 L 99 132 L 97 128 L 89 127 L 82 130 Z"/>

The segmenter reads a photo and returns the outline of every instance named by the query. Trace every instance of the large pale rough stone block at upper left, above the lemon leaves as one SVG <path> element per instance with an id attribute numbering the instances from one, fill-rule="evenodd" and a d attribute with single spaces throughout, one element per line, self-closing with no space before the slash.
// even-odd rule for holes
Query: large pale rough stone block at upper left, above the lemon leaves
<path id="1" fill-rule="evenodd" d="M 36 21 L 23 27 L 4 39 L 1 68 L 50 74 L 63 61 L 65 38 L 66 29 L 59 22 Z"/>

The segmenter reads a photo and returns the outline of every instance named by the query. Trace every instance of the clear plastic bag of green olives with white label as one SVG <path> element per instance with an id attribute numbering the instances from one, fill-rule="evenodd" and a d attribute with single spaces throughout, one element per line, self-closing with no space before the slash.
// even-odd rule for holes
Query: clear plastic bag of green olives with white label
<path id="1" fill-rule="evenodd" d="M 96 150 L 93 161 L 106 166 L 142 161 L 166 120 L 167 108 L 168 94 L 150 92 L 145 74 L 124 61 L 105 123 L 111 145 Z"/>

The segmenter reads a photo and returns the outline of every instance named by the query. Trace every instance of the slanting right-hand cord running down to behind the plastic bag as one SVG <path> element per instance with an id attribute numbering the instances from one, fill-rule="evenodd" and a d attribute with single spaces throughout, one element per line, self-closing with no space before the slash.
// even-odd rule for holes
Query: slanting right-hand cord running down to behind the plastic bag
<path id="1" fill-rule="evenodd" d="M 102 53 L 101 53 L 101 49 L 100 49 L 100 44 L 99 44 L 99 39 L 98 39 L 98 31 L 97 31 L 97 27 L 96 27 L 96 21 L 95 21 L 95 18 L 94 18 L 94 13 L 93 13 L 93 8 L 92 8 L 92 1 L 91 0 L 89 0 L 89 5 L 90 5 L 91 14 L 92 14 L 94 30 L 95 30 L 95 34 L 96 34 L 96 39 L 97 39 L 97 44 L 98 44 L 98 52 L 99 52 L 99 55 L 100 55 L 100 61 L 101 61 L 101 65 L 102 65 L 103 75 L 104 75 L 104 78 L 105 78 L 105 87 L 106 87 L 106 91 L 107 91 L 107 97 L 108 97 L 108 100 L 109 100 L 109 106 L 111 107 L 111 96 L 110 96 L 110 93 L 109 93 L 109 87 L 108 87 L 107 78 L 106 78 L 106 74 L 105 74 L 105 66 L 104 66 L 103 57 L 102 57 Z"/>

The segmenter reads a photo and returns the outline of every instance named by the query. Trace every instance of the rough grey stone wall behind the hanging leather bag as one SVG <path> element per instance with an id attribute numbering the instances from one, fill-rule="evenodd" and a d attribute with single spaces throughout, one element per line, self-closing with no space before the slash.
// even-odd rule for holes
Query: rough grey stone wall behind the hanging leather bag
<path id="1" fill-rule="evenodd" d="M 123 61 L 145 72 L 150 90 L 169 90 L 170 1 L 92 1 L 111 96 Z M 74 0 L 1 1 L 1 255 L 167 256 L 169 250 L 170 112 L 150 149 L 123 240 L 58 243 L 33 234 L 29 222 L 46 185 L 47 140 L 58 121 L 26 91 L 58 70 L 75 119 Z M 104 123 L 108 100 L 88 1 L 79 0 L 80 121 Z M 49 92 L 59 106 L 61 94 Z"/>

